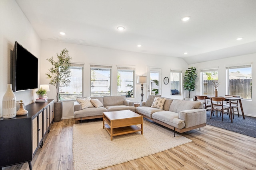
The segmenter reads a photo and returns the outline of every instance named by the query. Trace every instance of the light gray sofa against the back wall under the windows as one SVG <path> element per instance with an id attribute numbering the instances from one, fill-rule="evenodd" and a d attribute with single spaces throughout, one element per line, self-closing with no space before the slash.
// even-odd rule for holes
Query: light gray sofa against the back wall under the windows
<path id="1" fill-rule="evenodd" d="M 81 97 L 86 98 L 86 97 Z M 89 107 L 82 109 L 82 105 L 79 102 L 74 102 L 74 119 L 94 119 L 100 118 L 103 112 L 106 111 L 118 111 L 118 110 L 131 110 L 136 111 L 134 102 L 127 100 L 125 96 L 104 96 L 104 97 L 90 97 L 91 99 L 98 99 L 104 107 Z"/>

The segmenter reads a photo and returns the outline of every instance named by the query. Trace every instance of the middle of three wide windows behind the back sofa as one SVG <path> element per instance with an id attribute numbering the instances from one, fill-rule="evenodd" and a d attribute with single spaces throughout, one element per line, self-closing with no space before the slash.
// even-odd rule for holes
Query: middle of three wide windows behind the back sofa
<path id="1" fill-rule="evenodd" d="M 91 96 L 111 96 L 112 66 L 91 65 Z"/>

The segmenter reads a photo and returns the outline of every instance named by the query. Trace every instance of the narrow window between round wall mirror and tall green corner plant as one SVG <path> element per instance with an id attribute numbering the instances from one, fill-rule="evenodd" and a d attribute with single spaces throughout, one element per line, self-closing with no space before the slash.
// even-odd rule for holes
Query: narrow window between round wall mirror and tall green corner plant
<path id="1" fill-rule="evenodd" d="M 170 75 L 170 86 L 171 86 L 171 95 L 180 95 L 180 85 L 182 71 L 171 70 Z"/>

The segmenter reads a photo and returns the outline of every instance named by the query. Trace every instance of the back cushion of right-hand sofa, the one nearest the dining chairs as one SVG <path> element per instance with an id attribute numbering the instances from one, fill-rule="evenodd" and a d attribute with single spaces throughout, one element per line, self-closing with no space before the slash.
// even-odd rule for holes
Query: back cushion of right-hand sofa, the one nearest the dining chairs
<path id="1" fill-rule="evenodd" d="M 174 99 L 170 105 L 169 111 L 179 113 L 182 110 L 201 109 L 201 108 L 203 108 L 201 102 Z"/>

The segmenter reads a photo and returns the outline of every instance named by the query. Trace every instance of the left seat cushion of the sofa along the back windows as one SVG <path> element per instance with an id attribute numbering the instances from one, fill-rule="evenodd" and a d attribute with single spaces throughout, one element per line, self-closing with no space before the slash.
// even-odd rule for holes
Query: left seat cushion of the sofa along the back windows
<path id="1" fill-rule="evenodd" d="M 103 112 L 108 111 L 105 107 L 90 107 L 83 110 L 78 110 L 74 112 L 74 118 L 78 117 L 88 117 L 88 116 L 98 116 L 102 115 Z"/>

